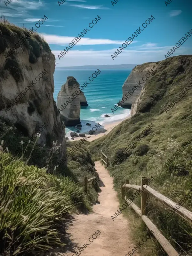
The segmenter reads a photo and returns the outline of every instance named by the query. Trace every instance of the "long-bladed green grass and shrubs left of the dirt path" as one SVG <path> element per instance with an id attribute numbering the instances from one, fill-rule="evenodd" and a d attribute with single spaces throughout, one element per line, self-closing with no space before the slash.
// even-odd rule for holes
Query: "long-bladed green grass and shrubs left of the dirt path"
<path id="1" fill-rule="evenodd" d="M 15 126 L 0 120 L 0 254 L 34 255 L 65 246 L 60 225 L 72 212 L 91 211 L 97 192 L 84 193 L 84 175 L 95 174 L 85 146 L 67 167 L 58 165 L 59 146 L 37 145 Z M 68 142 L 67 150 L 73 147 Z M 38 186 L 37 186 L 38 185 Z"/>

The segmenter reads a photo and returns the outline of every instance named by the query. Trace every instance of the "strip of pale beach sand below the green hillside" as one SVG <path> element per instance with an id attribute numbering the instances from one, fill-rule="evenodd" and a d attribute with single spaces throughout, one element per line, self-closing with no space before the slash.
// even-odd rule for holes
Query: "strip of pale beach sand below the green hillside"
<path id="1" fill-rule="evenodd" d="M 131 115 L 127 116 L 127 118 L 125 118 L 125 119 L 128 119 L 128 118 L 130 118 L 130 117 L 131 117 Z M 120 124 L 121 122 L 123 122 L 125 119 L 118 120 L 118 122 L 113 122 L 113 123 L 111 122 L 111 123 L 103 124 L 103 127 L 104 127 L 104 128 L 98 129 L 98 130 L 95 132 L 95 134 L 93 134 L 93 135 L 90 135 L 89 133 L 86 133 L 86 132 L 85 132 L 85 134 L 87 134 L 87 141 L 93 141 L 93 140 L 95 140 L 95 139 L 98 139 L 98 138 L 100 138 L 100 137 L 102 137 L 102 136 L 107 135 L 114 127 L 116 127 L 118 124 Z M 88 137 L 90 137 L 90 138 L 88 138 Z M 82 139 L 82 137 L 76 137 L 76 138 L 74 138 L 74 140 L 80 140 L 80 139 Z M 71 140 L 71 139 L 70 139 L 70 141 L 74 141 L 74 140 Z"/>

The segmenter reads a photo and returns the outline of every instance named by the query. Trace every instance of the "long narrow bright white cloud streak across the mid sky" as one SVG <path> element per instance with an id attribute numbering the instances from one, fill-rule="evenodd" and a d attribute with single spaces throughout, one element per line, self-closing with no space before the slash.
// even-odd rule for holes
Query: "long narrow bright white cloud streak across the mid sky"
<path id="1" fill-rule="evenodd" d="M 75 38 L 75 37 L 69 37 L 69 36 L 49 35 L 45 33 L 43 33 L 43 36 L 49 44 L 58 44 L 58 45 L 68 45 Z M 136 42 L 138 41 L 133 41 L 132 43 L 136 43 Z M 78 42 L 78 45 L 118 44 L 119 46 L 121 46 L 122 43 L 124 43 L 124 41 L 110 40 L 110 39 L 81 38 L 81 40 Z"/>

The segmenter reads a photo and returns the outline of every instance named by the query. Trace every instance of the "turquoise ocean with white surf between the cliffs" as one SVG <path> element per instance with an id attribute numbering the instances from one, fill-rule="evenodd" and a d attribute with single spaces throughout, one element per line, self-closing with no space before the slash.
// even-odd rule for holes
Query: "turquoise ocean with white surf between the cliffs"
<path id="1" fill-rule="evenodd" d="M 82 85 L 86 80 L 87 83 L 90 83 L 88 79 L 95 71 L 97 70 L 56 68 L 54 72 L 54 100 L 57 102 L 57 94 L 68 76 L 74 76 L 77 82 Z M 125 119 L 131 112 L 129 109 L 120 107 L 116 112 L 112 113 L 111 108 L 114 108 L 114 105 L 117 105 L 117 102 L 122 99 L 122 85 L 132 69 L 100 69 L 100 71 L 100 74 L 94 78 L 91 84 L 87 84 L 87 87 L 82 90 L 89 106 L 81 107 L 81 133 L 90 128 L 85 126 L 86 123 L 90 123 L 91 127 L 98 122 L 101 125 L 105 125 Z M 110 117 L 104 117 L 105 114 Z M 76 131 L 76 128 L 66 128 L 66 136 L 70 137 L 70 131 Z"/>

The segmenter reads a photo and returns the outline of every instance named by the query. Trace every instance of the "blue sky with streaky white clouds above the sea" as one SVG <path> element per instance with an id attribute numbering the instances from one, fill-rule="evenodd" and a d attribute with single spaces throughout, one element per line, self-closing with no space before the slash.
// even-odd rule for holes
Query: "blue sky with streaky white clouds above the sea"
<path id="1" fill-rule="evenodd" d="M 119 0 L 114 6 L 109 0 L 66 0 L 60 6 L 52 0 L 13 0 L 7 6 L 0 1 L 1 14 L 18 26 L 35 28 L 44 15 L 48 18 L 37 32 L 49 43 L 57 67 L 163 60 L 192 29 L 191 0 L 172 0 L 167 6 L 162 0 Z M 58 54 L 98 15 L 100 21 L 59 60 Z M 151 15 L 155 19 L 113 60 L 111 54 Z M 191 46 L 192 36 L 173 56 L 192 54 Z"/>

